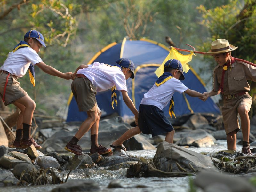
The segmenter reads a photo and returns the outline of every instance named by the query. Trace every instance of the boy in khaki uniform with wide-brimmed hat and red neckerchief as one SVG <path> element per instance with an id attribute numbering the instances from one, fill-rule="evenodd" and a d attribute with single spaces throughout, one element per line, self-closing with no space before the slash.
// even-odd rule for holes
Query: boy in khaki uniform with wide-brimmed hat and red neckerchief
<path id="1" fill-rule="evenodd" d="M 204 95 L 206 99 L 220 93 L 223 95 L 222 115 L 230 150 L 236 150 L 236 133 L 240 129 L 237 116 L 240 115 L 243 133 L 242 152 L 250 155 L 248 112 L 252 105 L 252 97 L 248 94 L 250 86 L 247 80 L 256 81 L 256 68 L 235 60 L 231 52 L 236 49 L 237 47 L 229 44 L 226 39 L 212 42 L 211 49 L 206 55 L 212 55 L 218 65 L 213 70 L 213 89 Z"/>

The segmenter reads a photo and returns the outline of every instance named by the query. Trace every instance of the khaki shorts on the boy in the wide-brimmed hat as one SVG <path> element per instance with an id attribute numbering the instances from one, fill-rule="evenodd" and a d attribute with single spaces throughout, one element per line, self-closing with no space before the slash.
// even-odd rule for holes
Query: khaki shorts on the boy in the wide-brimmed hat
<path id="1" fill-rule="evenodd" d="M 250 108 L 252 106 L 252 97 L 247 93 L 235 99 L 224 99 L 222 116 L 226 134 L 234 130 L 236 130 L 237 133 L 240 129 L 237 117 L 237 108 L 240 105 L 246 105 L 248 107 L 248 111 L 250 111 Z"/>

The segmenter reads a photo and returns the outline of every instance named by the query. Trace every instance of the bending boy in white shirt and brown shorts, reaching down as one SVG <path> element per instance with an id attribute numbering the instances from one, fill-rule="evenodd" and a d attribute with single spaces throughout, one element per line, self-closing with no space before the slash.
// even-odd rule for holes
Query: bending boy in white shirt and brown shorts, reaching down
<path id="1" fill-rule="evenodd" d="M 132 100 L 129 98 L 126 87 L 126 80 L 134 78 L 134 63 L 127 58 L 120 58 L 116 64 L 111 66 L 104 63 L 94 62 L 92 65 L 80 65 L 74 75 L 76 78 L 71 84 L 71 90 L 76 99 L 79 111 L 87 112 L 87 119 L 81 124 L 75 136 L 67 143 L 65 149 L 76 155 L 83 154 L 82 148 L 77 145 L 81 137 L 91 129 L 90 153 L 107 154 L 107 149 L 98 144 L 98 129 L 101 111 L 97 105 L 96 93 L 112 88 L 112 107 L 116 102 L 116 92 L 122 92 L 123 100 L 135 116 L 138 124 L 138 111 Z"/>

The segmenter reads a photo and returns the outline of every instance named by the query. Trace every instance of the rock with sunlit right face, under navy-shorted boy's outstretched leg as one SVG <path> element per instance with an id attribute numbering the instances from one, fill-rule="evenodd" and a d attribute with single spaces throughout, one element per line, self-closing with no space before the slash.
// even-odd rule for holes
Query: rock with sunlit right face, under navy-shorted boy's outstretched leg
<path id="1" fill-rule="evenodd" d="M 135 135 L 131 139 L 124 141 L 123 145 L 128 151 L 156 149 L 154 145 L 141 135 Z"/>

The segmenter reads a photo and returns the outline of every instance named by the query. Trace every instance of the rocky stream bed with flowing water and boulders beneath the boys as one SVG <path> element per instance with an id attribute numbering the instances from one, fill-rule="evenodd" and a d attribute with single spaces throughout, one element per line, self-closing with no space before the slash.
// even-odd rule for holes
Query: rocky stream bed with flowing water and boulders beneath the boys
<path id="1" fill-rule="evenodd" d="M 127 152 L 115 149 L 107 156 L 88 153 L 90 134 L 78 143 L 83 155 L 67 153 L 64 146 L 78 124 L 48 125 L 38 132 L 39 141 L 44 140 L 40 151 L 33 146 L 26 150 L 0 147 L 0 190 L 255 191 L 256 156 L 239 152 L 239 133 L 237 152 L 226 150 L 220 116 L 194 114 L 172 124 L 175 144 L 163 142 L 164 136 L 140 134 L 124 143 Z M 99 143 L 107 147 L 129 128 L 120 117 L 103 119 Z M 251 124 L 251 148 L 254 128 Z"/>

